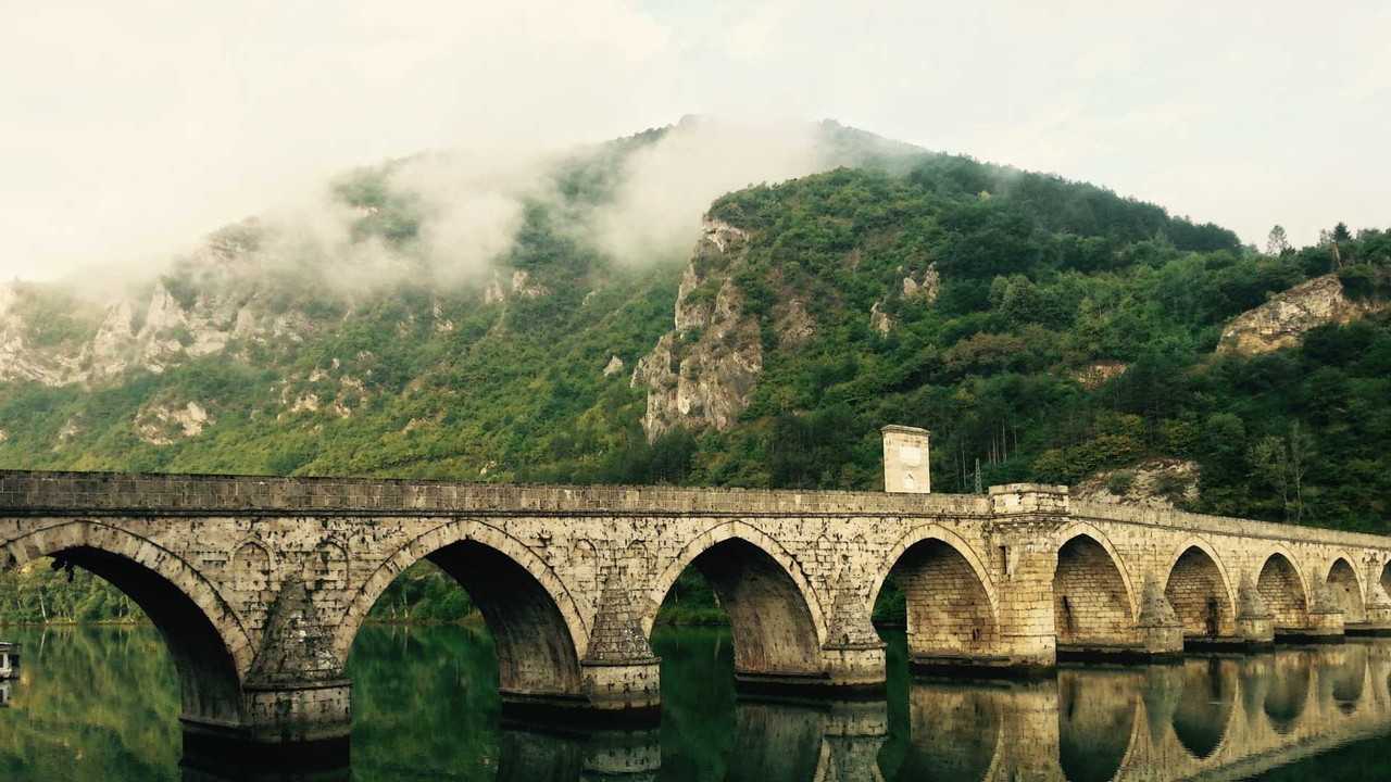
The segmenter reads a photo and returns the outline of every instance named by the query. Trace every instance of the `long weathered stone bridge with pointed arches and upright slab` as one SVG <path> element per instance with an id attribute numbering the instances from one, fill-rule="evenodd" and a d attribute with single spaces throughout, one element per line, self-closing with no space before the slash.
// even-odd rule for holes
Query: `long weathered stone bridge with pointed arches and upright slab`
<path id="1" fill-rule="evenodd" d="M 1074 502 L 1066 487 L 928 494 L 926 433 L 885 430 L 885 493 L 0 472 L 0 568 L 53 557 L 163 632 L 191 731 L 348 735 L 353 637 L 430 559 L 473 597 L 513 708 L 651 719 L 648 637 L 697 568 L 739 683 L 879 692 L 890 577 L 919 668 L 1341 640 L 1391 626 L 1391 538 Z"/>

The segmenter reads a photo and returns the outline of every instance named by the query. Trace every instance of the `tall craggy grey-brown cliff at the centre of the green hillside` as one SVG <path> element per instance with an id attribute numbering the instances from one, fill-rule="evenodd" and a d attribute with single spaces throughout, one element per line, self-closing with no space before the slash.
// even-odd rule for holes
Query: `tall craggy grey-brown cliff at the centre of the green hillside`
<path id="1" fill-rule="evenodd" d="M 743 292 L 732 278 L 747 241 L 743 230 L 707 220 L 676 295 L 676 330 L 633 369 L 633 387 L 647 387 L 643 429 L 650 440 L 679 426 L 727 430 L 748 405 L 764 349 L 758 319 L 744 312 Z M 789 302 L 782 309 L 789 320 L 804 319 L 793 338 L 810 337 L 805 308 Z"/>

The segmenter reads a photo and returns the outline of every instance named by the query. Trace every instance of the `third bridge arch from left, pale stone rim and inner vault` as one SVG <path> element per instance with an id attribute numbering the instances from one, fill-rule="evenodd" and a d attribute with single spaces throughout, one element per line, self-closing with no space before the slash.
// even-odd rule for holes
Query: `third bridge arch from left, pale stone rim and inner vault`
<path id="1" fill-rule="evenodd" d="M 643 633 L 652 635 L 666 594 L 697 568 L 729 615 L 741 675 L 819 675 L 826 621 L 797 558 L 753 525 L 729 520 L 686 544 L 652 582 Z"/>

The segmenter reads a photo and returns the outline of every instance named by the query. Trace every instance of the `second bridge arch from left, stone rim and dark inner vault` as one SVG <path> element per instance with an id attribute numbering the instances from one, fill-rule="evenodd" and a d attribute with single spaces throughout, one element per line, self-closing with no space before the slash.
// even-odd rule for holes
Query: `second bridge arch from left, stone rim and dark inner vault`
<path id="1" fill-rule="evenodd" d="M 447 522 L 410 540 L 357 587 L 334 635 L 339 662 L 346 662 L 377 598 L 421 559 L 449 573 L 479 607 L 492 633 L 504 693 L 544 699 L 581 692 L 580 658 L 590 633 L 573 597 L 522 541 L 473 519 Z"/>

